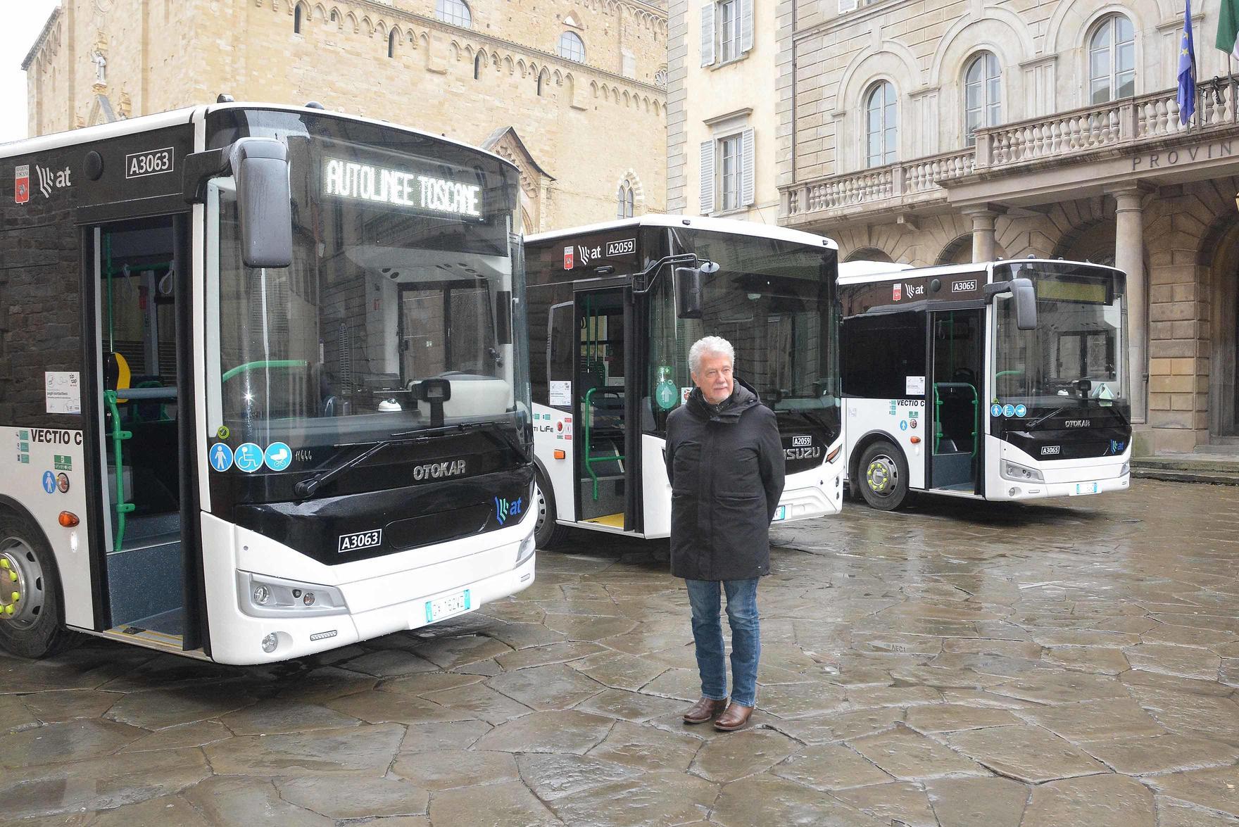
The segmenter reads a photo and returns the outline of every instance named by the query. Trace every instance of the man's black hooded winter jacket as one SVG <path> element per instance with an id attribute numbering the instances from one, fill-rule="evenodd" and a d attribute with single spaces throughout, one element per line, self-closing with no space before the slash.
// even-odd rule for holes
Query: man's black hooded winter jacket
<path id="1" fill-rule="evenodd" d="M 720 410 L 693 389 L 667 417 L 672 483 L 672 573 L 701 581 L 771 571 L 769 527 L 783 494 L 774 412 L 736 381 Z"/>

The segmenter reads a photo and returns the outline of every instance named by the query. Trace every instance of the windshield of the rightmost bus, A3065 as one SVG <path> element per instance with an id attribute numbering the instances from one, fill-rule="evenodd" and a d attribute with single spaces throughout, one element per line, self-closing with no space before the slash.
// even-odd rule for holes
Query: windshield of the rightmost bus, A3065
<path id="1" fill-rule="evenodd" d="M 1012 270 L 1015 272 L 1012 272 Z M 994 280 L 1027 277 L 1037 328 L 1016 327 L 1015 301 L 994 303 L 995 402 L 1030 409 L 1130 406 L 1124 276 L 1110 267 L 1028 262 L 995 267 Z"/>

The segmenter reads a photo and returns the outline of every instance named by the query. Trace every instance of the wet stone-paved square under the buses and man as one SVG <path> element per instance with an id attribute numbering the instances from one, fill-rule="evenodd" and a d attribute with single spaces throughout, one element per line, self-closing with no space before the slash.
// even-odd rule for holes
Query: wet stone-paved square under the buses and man
<path id="1" fill-rule="evenodd" d="M 307 661 L 0 659 L 0 820 L 1239 825 L 1237 513 L 1140 480 L 786 526 L 735 734 L 679 722 L 658 546 L 596 535 L 514 599 Z"/>

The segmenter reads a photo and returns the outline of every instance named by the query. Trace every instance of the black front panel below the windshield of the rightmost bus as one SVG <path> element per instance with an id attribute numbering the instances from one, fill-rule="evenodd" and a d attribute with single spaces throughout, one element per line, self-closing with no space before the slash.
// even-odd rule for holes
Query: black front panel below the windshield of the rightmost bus
<path id="1" fill-rule="evenodd" d="M 1124 407 L 1032 409 L 1021 418 L 990 418 L 990 433 L 1035 459 L 1116 457 L 1131 443 Z"/>

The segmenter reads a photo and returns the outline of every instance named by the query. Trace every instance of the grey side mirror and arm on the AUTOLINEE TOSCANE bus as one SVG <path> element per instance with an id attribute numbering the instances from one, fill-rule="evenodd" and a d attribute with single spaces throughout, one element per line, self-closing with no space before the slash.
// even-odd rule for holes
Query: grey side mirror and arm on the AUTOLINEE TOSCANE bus
<path id="1" fill-rule="evenodd" d="M 247 267 L 287 267 L 292 264 L 287 147 L 274 137 L 242 137 L 223 149 L 190 155 L 185 201 L 204 202 L 207 183 L 229 172 L 237 181 L 242 261 Z"/>

